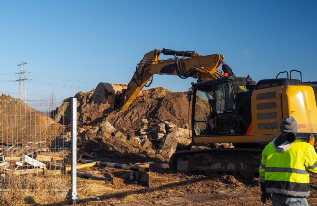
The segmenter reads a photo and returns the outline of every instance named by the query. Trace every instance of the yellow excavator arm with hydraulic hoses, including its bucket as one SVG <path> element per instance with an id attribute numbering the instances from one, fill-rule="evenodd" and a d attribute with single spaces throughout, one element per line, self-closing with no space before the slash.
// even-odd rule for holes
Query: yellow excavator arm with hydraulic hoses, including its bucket
<path id="1" fill-rule="evenodd" d="M 174 57 L 160 60 L 161 54 Z M 218 79 L 223 77 L 222 72 L 218 70 L 223 59 L 224 56 L 220 54 L 203 56 L 194 51 L 153 50 L 146 53 L 137 64 L 136 71 L 127 86 L 99 83 L 92 100 L 110 104 L 118 111 L 125 111 L 141 89 L 151 85 L 153 74 L 178 75 L 182 79 L 193 77 L 197 82 Z"/>

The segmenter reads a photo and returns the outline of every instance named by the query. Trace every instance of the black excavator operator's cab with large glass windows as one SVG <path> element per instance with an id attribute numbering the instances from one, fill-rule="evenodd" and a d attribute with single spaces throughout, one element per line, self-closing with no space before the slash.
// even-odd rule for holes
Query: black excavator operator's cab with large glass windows
<path id="1" fill-rule="evenodd" d="M 240 120 L 243 118 L 237 106 L 237 93 L 249 91 L 247 82 L 247 78 L 224 77 L 193 85 L 194 136 L 240 134 Z"/>

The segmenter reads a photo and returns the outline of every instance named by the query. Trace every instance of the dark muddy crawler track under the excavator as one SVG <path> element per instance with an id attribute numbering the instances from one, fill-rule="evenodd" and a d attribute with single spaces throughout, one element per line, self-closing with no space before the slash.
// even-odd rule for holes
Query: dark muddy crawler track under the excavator
<path id="1" fill-rule="evenodd" d="M 258 176 L 263 148 L 212 148 L 179 151 L 170 159 L 170 168 L 185 173 L 240 174 Z"/>

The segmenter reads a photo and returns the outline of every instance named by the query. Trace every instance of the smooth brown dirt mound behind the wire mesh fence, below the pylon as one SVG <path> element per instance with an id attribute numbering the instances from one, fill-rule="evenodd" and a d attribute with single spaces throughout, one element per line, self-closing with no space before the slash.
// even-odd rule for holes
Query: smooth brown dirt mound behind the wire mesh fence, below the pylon
<path id="1" fill-rule="evenodd" d="M 4 94 L 0 97 L 0 126 L 0 143 L 4 144 L 53 140 L 65 130 L 22 100 Z"/>

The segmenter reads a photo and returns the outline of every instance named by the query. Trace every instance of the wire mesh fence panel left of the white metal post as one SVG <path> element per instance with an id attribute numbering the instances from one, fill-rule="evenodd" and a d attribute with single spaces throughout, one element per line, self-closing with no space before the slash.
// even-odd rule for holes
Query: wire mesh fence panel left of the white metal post
<path id="1" fill-rule="evenodd" d="M 69 104 L 0 100 L 1 189 L 71 188 Z"/>

